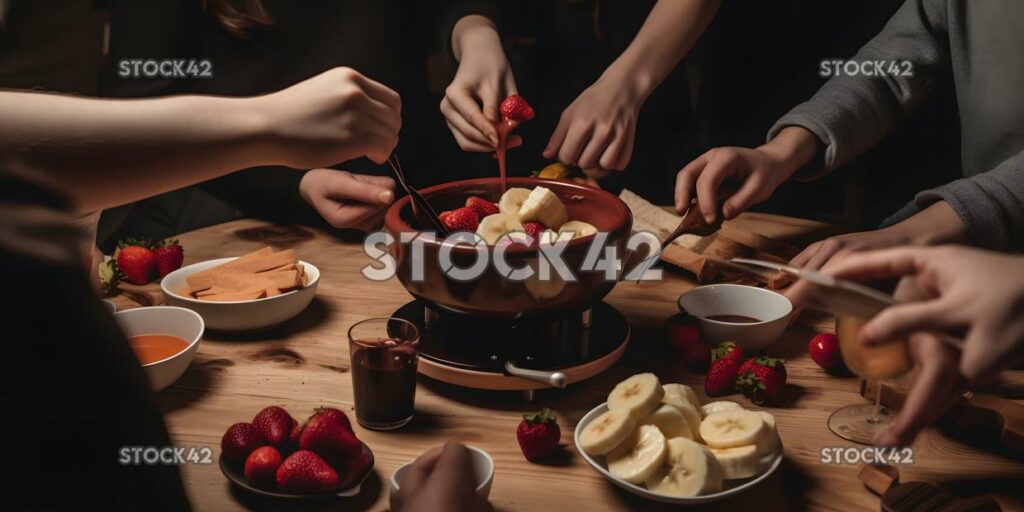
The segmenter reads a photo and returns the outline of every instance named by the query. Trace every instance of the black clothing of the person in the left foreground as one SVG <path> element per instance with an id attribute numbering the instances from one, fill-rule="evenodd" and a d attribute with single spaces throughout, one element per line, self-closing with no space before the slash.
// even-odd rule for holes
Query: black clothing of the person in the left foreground
<path id="1" fill-rule="evenodd" d="M 122 446 L 171 446 L 145 375 L 114 317 L 96 299 L 81 262 L 41 257 L 39 238 L 73 254 L 67 202 L 0 170 L 4 358 L 0 421 L 4 456 L 17 469 L 0 478 L 0 510 L 188 510 L 177 466 L 122 465 Z M 31 208 L 50 228 L 30 226 Z M 23 228 L 18 229 L 20 225 Z M 62 227 L 61 227 L 62 225 Z M 16 421 L 15 421 L 16 420 Z"/>

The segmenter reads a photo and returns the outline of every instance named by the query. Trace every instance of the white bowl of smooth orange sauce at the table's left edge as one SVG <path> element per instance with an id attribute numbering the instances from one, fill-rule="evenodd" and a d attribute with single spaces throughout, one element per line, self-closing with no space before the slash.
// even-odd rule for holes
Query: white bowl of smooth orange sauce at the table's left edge
<path id="1" fill-rule="evenodd" d="M 196 356 L 199 340 L 203 338 L 203 317 L 183 307 L 152 306 L 127 309 L 114 313 L 114 319 L 125 337 L 162 334 L 176 336 L 188 343 L 184 350 L 166 359 L 142 365 L 142 370 L 145 371 L 150 385 L 155 391 L 170 386 L 185 373 L 193 357 Z"/>

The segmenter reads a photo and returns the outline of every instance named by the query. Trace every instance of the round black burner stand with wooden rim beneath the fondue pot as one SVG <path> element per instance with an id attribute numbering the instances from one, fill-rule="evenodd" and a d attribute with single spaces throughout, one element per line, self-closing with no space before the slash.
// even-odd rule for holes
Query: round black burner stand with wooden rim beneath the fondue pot
<path id="1" fill-rule="evenodd" d="M 630 338 L 615 308 L 556 317 L 494 318 L 415 300 L 394 316 L 420 329 L 421 374 L 458 386 L 526 391 L 562 388 L 613 365 Z"/>

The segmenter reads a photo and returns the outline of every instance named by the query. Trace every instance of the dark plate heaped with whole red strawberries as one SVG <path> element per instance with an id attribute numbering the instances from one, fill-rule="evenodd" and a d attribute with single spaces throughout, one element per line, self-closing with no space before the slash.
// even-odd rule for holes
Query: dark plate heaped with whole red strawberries
<path id="1" fill-rule="evenodd" d="M 220 470 L 234 485 L 280 499 L 348 498 L 359 494 L 374 454 L 345 413 L 317 409 L 299 424 L 278 406 L 227 428 Z"/>

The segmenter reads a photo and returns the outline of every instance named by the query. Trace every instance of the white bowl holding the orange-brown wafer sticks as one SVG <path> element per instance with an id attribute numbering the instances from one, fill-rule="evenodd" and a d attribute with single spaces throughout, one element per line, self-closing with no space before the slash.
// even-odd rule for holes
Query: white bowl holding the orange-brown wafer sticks
<path id="1" fill-rule="evenodd" d="M 319 269 L 310 263 L 300 261 L 305 267 L 309 283 L 299 289 L 274 297 L 256 300 L 214 302 L 181 296 L 174 290 L 187 288 L 185 278 L 198 271 L 224 264 L 234 258 L 220 258 L 183 266 L 164 276 L 160 288 L 167 303 L 186 307 L 200 313 L 206 327 L 216 331 L 257 331 L 283 324 L 294 318 L 312 302 L 319 283 Z"/>

